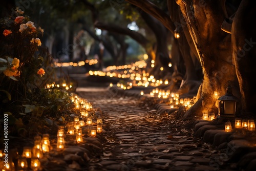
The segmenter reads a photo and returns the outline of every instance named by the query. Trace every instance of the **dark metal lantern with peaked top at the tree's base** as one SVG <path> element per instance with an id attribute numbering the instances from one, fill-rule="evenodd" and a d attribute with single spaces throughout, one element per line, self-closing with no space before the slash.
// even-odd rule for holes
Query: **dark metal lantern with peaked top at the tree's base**
<path id="1" fill-rule="evenodd" d="M 239 99 L 233 96 L 231 87 L 227 87 L 227 93 L 218 99 L 218 117 L 232 118 L 235 117 L 238 112 Z"/>

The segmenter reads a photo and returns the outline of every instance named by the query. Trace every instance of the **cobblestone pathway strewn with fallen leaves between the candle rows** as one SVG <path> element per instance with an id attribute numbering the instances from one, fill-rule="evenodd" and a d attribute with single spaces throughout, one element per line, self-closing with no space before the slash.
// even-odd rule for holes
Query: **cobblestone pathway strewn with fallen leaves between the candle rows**
<path id="1" fill-rule="evenodd" d="M 169 116 L 139 106 L 138 99 L 110 96 L 100 89 L 83 90 L 80 94 L 105 116 L 104 153 L 95 163 L 90 163 L 89 170 L 215 170 L 219 167 L 212 160 L 218 158 L 214 147 L 193 138 L 191 129 L 176 127 L 175 122 L 172 125 Z"/>

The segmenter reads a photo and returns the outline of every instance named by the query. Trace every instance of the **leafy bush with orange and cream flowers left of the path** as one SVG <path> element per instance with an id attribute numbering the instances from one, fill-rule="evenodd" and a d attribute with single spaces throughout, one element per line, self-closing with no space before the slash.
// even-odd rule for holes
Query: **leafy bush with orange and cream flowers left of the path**
<path id="1" fill-rule="evenodd" d="M 44 30 L 16 9 L 0 22 L 0 113 L 8 114 L 9 135 L 34 135 L 74 113 L 66 90 L 45 89 L 52 79 L 51 56 L 41 48 Z"/>

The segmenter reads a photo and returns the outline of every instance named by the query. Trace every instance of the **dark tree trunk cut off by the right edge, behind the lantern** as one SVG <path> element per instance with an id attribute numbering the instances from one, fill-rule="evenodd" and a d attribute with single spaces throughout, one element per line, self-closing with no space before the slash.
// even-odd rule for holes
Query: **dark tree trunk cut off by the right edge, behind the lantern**
<path id="1" fill-rule="evenodd" d="M 233 20 L 231 29 L 233 59 L 238 76 L 242 110 L 256 112 L 256 7 L 253 1 L 243 0 Z"/>

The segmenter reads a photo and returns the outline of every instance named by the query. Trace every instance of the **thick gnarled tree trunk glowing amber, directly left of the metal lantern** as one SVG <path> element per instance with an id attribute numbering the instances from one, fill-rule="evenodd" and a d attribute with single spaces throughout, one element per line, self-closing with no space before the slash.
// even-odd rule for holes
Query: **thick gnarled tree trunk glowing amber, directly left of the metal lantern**
<path id="1" fill-rule="evenodd" d="M 203 71 L 203 81 L 199 88 L 196 104 L 187 116 L 201 116 L 203 112 L 217 112 L 214 91 L 224 95 L 226 87 L 233 87 L 233 94 L 239 96 L 238 80 L 231 60 L 230 35 L 221 30 L 227 17 L 225 1 L 177 0 L 188 30 L 197 48 Z"/>

